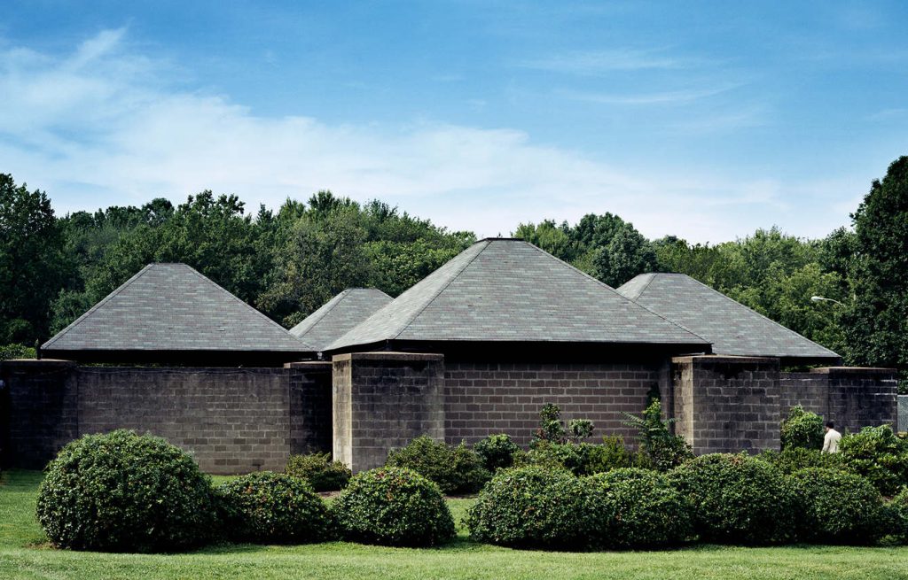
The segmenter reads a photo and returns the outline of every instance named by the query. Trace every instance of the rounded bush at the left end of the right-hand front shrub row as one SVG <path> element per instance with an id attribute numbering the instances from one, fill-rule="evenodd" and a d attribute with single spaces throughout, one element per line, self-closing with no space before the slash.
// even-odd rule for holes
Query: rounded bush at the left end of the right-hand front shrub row
<path id="1" fill-rule="evenodd" d="M 586 547 L 592 512 L 580 480 L 538 466 L 498 471 L 469 509 L 469 535 L 521 547 Z"/>

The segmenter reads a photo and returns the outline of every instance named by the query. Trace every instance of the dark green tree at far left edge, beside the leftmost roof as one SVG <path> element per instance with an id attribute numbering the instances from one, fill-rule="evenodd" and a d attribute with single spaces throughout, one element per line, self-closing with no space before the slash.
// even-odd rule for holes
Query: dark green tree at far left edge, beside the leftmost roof
<path id="1" fill-rule="evenodd" d="M 0 174 L 0 344 L 48 337 L 51 300 L 72 267 L 50 199 Z"/>

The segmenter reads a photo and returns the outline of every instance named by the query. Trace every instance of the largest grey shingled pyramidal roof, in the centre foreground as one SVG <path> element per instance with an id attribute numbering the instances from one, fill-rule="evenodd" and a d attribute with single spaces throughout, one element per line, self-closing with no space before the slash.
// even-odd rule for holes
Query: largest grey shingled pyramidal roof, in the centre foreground
<path id="1" fill-rule="evenodd" d="M 467 248 L 327 350 L 386 341 L 708 342 L 523 240 Z"/>

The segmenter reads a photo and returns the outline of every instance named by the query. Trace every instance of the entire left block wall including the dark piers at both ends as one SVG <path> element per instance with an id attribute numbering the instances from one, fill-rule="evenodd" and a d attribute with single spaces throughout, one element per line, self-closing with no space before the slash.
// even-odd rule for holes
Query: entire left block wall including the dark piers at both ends
<path id="1" fill-rule="evenodd" d="M 328 450 L 321 368 L 76 367 L 4 362 L 9 429 L 5 462 L 37 469 L 86 433 L 150 432 L 211 473 L 283 469 L 288 456 Z M 315 407 L 315 409 L 312 409 Z"/>

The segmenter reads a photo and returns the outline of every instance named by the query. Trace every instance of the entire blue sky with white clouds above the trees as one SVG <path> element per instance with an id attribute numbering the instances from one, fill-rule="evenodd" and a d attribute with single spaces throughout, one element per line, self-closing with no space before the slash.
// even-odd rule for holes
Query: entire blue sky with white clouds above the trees
<path id="1" fill-rule="evenodd" d="M 908 154 L 903 2 L 51 2 L 0 12 L 0 171 L 61 213 L 319 189 L 479 236 L 847 225 Z"/>

